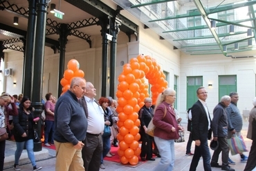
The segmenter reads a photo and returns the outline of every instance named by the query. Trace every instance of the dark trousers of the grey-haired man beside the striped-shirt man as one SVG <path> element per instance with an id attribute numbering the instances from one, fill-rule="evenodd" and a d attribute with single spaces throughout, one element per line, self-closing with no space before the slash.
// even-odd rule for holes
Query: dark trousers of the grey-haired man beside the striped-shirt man
<path id="1" fill-rule="evenodd" d="M 218 163 L 219 153 L 221 153 L 222 166 L 223 167 L 228 166 L 229 147 L 228 147 L 227 138 L 218 137 L 218 142 L 219 142 L 219 148 L 217 148 L 217 150 L 214 150 L 212 154 L 212 161 L 210 163 Z"/>

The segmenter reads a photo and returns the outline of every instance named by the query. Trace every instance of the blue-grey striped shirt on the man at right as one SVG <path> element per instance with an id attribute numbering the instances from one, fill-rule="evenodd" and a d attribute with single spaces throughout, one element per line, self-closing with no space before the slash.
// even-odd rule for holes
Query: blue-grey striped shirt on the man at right
<path id="1" fill-rule="evenodd" d="M 231 101 L 230 105 L 228 105 L 228 108 L 226 108 L 226 112 L 228 117 L 228 130 L 235 129 L 238 132 L 241 131 L 243 126 L 243 119 L 239 109 L 237 108 L 237 105 Z"/>

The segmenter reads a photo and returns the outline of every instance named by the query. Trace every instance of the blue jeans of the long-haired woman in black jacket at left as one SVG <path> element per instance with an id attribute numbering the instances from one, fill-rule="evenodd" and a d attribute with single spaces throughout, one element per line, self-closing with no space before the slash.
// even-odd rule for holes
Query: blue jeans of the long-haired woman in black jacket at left
<path id="1" fill-rule="evenodd" d="M 26 150 L 28 152 L 28 158 L 30 159 L 33 166 L 37 165 L 35 163 L 35 155 L 34 155 L 34 141 L 33 139 L 28 139 L 23 142 L 16 142 L 17 150 L 15 151 L 15 164 L 19 164 L 19 157 L 21 157 L 21 153 L 24 149 L 24 145 L 26 145 Z"/>

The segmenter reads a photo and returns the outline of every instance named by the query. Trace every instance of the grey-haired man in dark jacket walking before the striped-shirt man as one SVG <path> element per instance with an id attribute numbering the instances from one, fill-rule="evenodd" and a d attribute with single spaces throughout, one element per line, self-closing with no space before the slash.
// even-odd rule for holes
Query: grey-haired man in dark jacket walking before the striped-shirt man
<path id="1" fill-rule="evenodd" d="M 213 132 L 213 140 L 219 142 L 219 147 L 217 150 L 214 150 L 212 154 L 212 161 L 210 165 L 215 168 L 221 168 L 221 170 L 230 170 L 235 171 L 230 168 L 228 165 L 228 119 L 226 115 L 225 108 L 230 104 L 230 97 L 223 96 L 221 97 L 221 102 L 216 105 L 213 110 L 213 119 L 212 119 L 212 132 Z M 219 165 L 219 153 L 222 152 L 222 165 Z"/>

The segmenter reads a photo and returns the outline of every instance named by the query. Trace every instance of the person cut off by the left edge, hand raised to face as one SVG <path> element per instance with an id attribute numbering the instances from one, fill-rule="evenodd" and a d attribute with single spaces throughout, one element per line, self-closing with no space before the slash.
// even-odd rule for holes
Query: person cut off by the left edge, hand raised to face
<path id="1" fill-rule="evenodd" d="M 8 103 L 12 105 L 12 109 L 8 107 Z M 10 130 L 9 115 L 15 116 L 18 110 L 15 105 L 15 99 L 10 97 L 8 93 L 2 93 L 0 96 L 0 128 Z M 3 170 L 4 151 L 6 150 L 6 140 L 0 141 L 0 170 Z"/>

